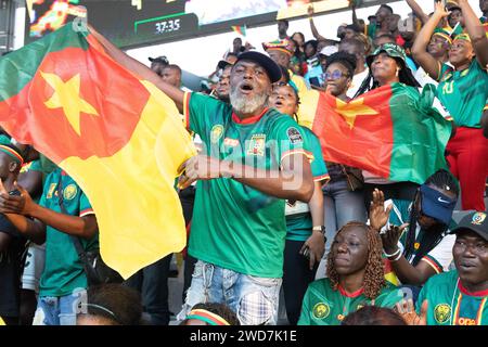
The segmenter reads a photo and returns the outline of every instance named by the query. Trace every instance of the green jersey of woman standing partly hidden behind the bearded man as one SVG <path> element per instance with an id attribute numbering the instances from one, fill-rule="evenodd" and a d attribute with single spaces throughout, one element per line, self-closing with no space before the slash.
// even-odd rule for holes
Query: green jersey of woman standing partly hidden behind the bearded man
<path id="1" fill-rule="evenodd" d="M 317 182 L 329 179 L 319 139 L 310 129 L 301 127 L 301 130 L 305 134 L 305 150 L 309 152 L 309 158 L 311 159 L 310 169 L 313 180 Z M 294 204 L 286 202 L 286 240 L 307 241 L 313 228 L 308 204 L 301 202 L 295 202 Z"/>

